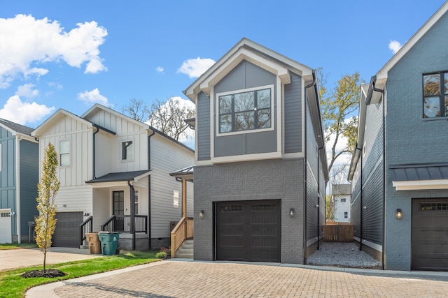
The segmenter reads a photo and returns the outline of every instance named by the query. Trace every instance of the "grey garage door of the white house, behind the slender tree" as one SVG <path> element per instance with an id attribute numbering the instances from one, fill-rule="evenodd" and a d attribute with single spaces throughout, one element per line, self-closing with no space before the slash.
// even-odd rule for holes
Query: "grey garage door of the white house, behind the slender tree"
<path id="1" fill-rule="evenodd" d="M 79 248 L 79 225 L 83 223 L 83 212 L 57 212 L 56 219 L 52 246 Z"/>

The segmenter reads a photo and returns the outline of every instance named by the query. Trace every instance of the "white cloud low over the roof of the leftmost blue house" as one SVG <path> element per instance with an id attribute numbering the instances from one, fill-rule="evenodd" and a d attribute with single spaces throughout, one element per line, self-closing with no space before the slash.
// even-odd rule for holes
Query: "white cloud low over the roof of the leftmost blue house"
<path id="1" fill-rule="evenodd" d="M 39 105 L 36 102 L 25 103 L 20 96 L 11 96 L 0 110 L 0 118 L 8 119 L 18 124 L 30 124 L 40 121 L 55 110 L 55 107 Z"/>

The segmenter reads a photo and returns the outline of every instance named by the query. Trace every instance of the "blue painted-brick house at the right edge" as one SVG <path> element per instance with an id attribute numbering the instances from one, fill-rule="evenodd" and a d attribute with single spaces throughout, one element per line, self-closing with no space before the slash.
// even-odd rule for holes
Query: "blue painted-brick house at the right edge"
<path id="1" fill-rule="evenodd" d="M 447 11 L 360 90 L 351 222 L 384 269 L 448 271 Z"/>

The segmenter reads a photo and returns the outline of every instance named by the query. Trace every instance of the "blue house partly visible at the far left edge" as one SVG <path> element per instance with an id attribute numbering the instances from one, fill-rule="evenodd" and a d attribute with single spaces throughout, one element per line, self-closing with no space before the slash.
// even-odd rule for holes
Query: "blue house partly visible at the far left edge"
<path id="1" fill-rule="evenodd" d="M 38 215 L 39 154 L 31 131 L 0 119 L 0 243 L 28 241 L 28 223 Z"/>

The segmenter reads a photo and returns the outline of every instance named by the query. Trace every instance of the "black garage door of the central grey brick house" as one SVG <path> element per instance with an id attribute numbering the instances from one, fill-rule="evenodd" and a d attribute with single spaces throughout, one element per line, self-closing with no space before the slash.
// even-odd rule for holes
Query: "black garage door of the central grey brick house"
<path id="1" fill-rule="evenodd" d="M 280 262 L 281 201 L 217 202 L 216 260 Z"/>

